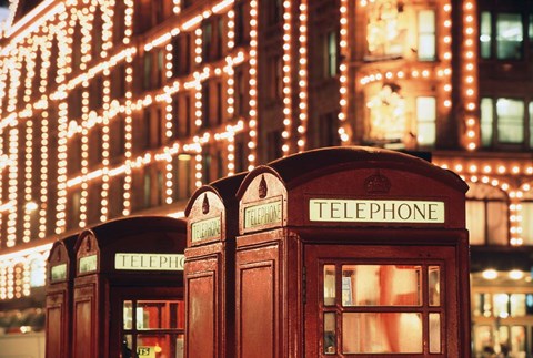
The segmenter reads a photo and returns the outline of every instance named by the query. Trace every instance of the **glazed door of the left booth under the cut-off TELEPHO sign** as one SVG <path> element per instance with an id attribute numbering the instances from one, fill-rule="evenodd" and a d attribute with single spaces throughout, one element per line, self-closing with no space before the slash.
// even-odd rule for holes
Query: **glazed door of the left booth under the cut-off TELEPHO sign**
<path id="1" fill-rule="evenodd" d="M 113 287 L 110 357 L 183 357 L 185 309 L 182 288 Z"/>

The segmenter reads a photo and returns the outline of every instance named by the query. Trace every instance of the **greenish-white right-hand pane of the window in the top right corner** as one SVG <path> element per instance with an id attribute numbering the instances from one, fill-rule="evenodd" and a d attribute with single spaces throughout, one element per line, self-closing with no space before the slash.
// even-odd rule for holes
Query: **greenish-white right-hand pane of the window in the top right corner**
<path id="1" fill-rule="evenodd" d="M 499 13 L 496 18 L 499 60 L 522 58 L 523 28 L 520 13 Z"/>

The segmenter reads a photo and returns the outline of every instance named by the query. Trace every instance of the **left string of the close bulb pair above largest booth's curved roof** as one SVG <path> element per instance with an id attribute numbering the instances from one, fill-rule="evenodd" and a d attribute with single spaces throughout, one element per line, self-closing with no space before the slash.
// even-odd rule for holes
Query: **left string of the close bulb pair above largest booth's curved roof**
<path id="1" fill-rule="evenodd" d="M 283 1 L 283 125 L 281 136 L 285 140 L 282 145 L 283 156 L 291 153 L 292 141 L 292 0 Z"/>

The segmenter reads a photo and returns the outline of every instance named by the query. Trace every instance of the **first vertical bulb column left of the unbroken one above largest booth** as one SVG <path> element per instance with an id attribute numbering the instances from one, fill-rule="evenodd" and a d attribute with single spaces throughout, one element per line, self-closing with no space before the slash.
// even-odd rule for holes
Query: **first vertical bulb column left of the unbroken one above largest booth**
<path id="1" fill-rule="evenodd" d="M 228 11 L 228 51 L 231 53 L 235 48 L 235 12 L 231 9 Z M 235 114 L 235 71 L 233 70 L 233 59 L 231 55 L 225 58 L 227 75 L 227 112 L 230 119 Z M 228 137 L 228 175 L 235 174 L 235 136 L 230 135 Z"/>

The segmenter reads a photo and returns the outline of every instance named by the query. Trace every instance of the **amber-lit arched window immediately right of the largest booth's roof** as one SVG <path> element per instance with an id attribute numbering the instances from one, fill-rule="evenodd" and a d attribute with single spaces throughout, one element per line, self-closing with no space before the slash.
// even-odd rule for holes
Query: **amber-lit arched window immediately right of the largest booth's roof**
<path id="1" fill-rule="evenodd" d="M 470 184 L 466 197 L 466 228 L 471 245 L 509 245 L 506 195 L 484 184 Z"/>

